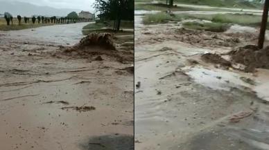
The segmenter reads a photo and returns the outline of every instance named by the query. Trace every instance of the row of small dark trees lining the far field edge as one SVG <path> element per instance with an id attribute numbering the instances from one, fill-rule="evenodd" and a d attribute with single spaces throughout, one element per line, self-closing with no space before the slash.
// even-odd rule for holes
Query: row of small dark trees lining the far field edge
<path id="1" fill-rule="evenodd" d="M 13 24 L 13 17 L 9 12 L 4 13 L 4 17 L 6 19 L 6 23 L 8 26 Z M 76 12 L 70 12 L 67 17 L 44 17 L 44 16 L 38 16 L 38 17 L 24 17 L 22 18 L 20 15 L 17 15 L 17 19 L 19 21 L 19 25 L 21 25 L 21 19 L 24 19 L 24 23 L 28 24 L 30 21 L 35 24 L 36 22 L 38 24 L 69 24 L 69 23 L 76 23 L 76 22 L 85 22 L 90 21 L 90 19 L 80 18 L 78 17 L 78 14 Z"/>

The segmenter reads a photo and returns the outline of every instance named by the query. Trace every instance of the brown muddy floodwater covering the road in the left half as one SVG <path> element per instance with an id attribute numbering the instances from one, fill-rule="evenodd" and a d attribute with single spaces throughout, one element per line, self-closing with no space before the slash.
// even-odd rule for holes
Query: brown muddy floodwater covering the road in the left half
<path id="1" fill-rule="evenodd" d="M 0 32 L 1 149 L 133 147 L 132 62 L 53 55 L 86 24 Z"/>

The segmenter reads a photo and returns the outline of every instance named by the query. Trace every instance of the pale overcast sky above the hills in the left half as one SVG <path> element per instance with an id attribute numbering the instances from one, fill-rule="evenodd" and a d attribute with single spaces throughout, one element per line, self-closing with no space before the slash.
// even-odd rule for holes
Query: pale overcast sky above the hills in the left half
<path id="1" fill-rule="evenodd" d="M 37 6 L 50 6 L 53 8 L 73 8 L 78 10 L 94 11 L 92 4 L 94 0 L 8 0 L 8 1 L 21 1 L 26 3 L 33 3 Z"/>

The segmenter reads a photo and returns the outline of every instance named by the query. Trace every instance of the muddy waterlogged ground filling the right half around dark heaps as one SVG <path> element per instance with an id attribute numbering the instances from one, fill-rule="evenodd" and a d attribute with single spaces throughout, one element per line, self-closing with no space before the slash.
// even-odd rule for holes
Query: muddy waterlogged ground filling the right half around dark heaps
<path id="1" fill-rule="evenodd" d="M 193 32 L 180 23 L 146 26 L 142 18 L 135 16 L 136 149 L 269 149 L 269 71 L 244 73 L 237 64 L 201 59 L 256 44 L 257 29 Z"/>

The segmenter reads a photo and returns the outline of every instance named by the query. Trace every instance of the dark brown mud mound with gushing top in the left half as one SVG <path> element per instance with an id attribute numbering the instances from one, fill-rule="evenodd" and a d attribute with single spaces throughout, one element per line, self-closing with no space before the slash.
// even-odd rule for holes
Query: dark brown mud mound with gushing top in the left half
<path id="1" fill-rule="evenodd" d="M 55 55 L 59 56 L 62 54 L 74 58 L 92 58 L 92 60 L 96 60 L 96 58 L 98 58 L 98 61 L 105 60 L 104 57 L 109 60 L 116 60 L 122 63 L 133 61 L 133 53 L 131 50 L 116 50 L 113 37 L 110 33 L 90 33 L 86 37 L 83 37 L 83 39 L 81 39 L 75 46 L 62 47 L 60 54 L 56 53 Z"/>

